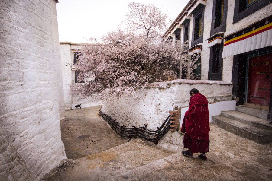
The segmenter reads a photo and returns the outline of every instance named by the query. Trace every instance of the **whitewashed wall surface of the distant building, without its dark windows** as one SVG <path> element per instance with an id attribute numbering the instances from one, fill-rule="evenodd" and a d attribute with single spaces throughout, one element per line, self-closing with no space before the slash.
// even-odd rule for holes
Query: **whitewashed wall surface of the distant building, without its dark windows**
<path id="1" fill-rule="evenodd" d="M 71 80 L 75 80 L 75 70 L 73 70 L 73 76 L 71 75 L 71 68 L 66 63 L 69 63 L 73 66 L 74 63 L 74 52 L 72 50 L 80 50 L 81 46 L 77 43 L 71 42 L 60 42 L 60 56 L 61 56 L 61 68 L 62 68 L 62 78 L 63 78 L 63 91 L 64 91 L 64 104 L 65 109 L 70 109 L 71 107 L 71 94 L 70 94 L 70 85 Z M 67 66 L 66 66 L 67 65 Z M 73 68 L 75 68 L 73 66 Z M 72 109 L 75 105 L 81 104 L 81 107 L 90 107 L 101 105 L 100 101 L 95 101 L 92 97 L 82 99 L 73 95 Z"/>

